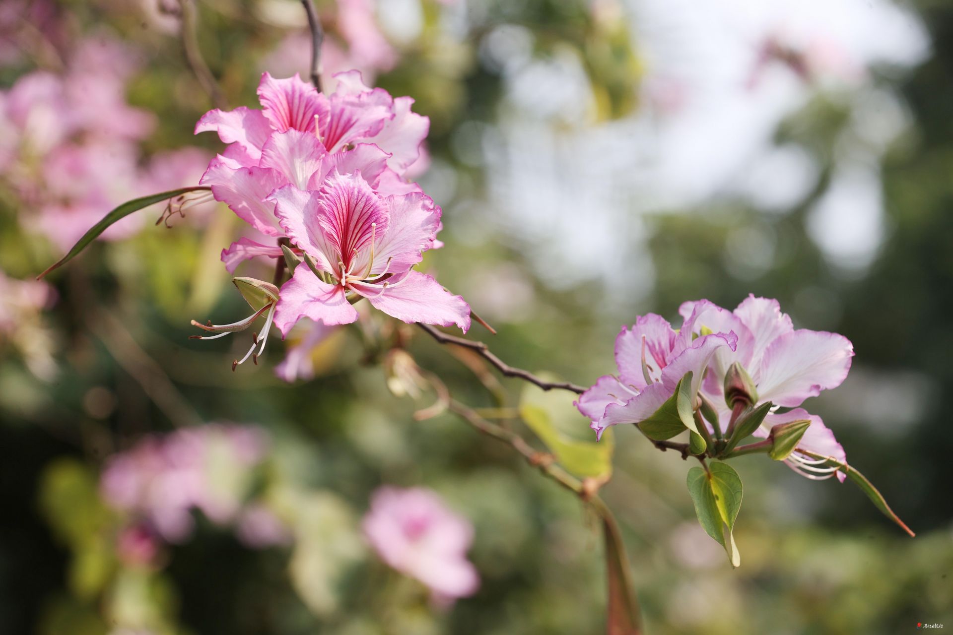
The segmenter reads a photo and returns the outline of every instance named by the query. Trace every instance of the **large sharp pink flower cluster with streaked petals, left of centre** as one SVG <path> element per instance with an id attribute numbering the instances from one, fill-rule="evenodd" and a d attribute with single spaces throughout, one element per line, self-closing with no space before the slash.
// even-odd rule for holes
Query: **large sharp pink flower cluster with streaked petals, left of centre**
<path id="1" fill-rule="evenodd" d="M 254 307 L 253 318 L 267 315 L 265 336 L 260 345 L 253 338 L 238 364 L 262 353 L 273 323 L 283 336 L 302 318 L 350 324 L 361 298 L 407 323 L 470 327 L 469 305 L 414 270 L 423 251 L 439 247 L 441 228 L 440 208 L 406 180 L 429 120 L 411 111 L 412 98 L 369 89 L 357 71 L 335 79 L 335 92 L 325 95 L 297 75 L 264 73 L 261 109 L 214 109 L 195 127 L 228 144 L 201 185 L 250 226 L 223 250 L 226 267 L 283 258 L 282 245 L 303 260 L 280 293 L 269 291 L 273 302 Z M 220 337 L 253 318 L 196 326 Z"/>

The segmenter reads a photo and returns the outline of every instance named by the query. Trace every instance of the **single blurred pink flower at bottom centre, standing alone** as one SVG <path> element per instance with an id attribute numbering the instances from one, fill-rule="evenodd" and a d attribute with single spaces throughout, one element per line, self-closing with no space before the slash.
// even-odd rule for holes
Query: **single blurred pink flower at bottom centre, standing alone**
<path id="1" fill-rule="evenodd" d="M 436 601 L 476 593 L 479 576 L 466 559 L 473 526 L 433 491 L 380 487 L 363 529 L 381 560 L 427 585 Z"/>

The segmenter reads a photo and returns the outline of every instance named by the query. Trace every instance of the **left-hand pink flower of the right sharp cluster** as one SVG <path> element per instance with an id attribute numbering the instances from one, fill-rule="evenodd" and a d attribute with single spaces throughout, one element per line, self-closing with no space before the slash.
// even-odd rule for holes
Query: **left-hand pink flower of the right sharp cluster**
<path id="1" fill-rule="evenodd" d="M 699 314 L 685 318 L 679 331 L 654 313 L 639 316 L 616 338 L 618 376 L 604 375 L 579 396 L 576 407 L 592 421 L 597 438 L 606 427 L 637 424 L 652 416 L 672 396 L 679 380 L 692 371 L 691 394 L 700 387 L 705 367 L 720 350 L 734 350 L 738 335 L 731 329 L 694 337 Z"/>

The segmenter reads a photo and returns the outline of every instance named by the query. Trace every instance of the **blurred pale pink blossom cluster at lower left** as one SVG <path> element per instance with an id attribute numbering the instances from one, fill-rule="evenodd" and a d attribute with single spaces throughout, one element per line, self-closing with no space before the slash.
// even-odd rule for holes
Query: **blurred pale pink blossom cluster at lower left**
<path id="1" fill-rule="evenodd" d="M 112 457 L 100 488 L 112 506 L 181 542 L 193 530 L 193 508 L 216 525 L 233 522 L 265 445 L 258 428 L 216 424 L 147 437 Z"/>

